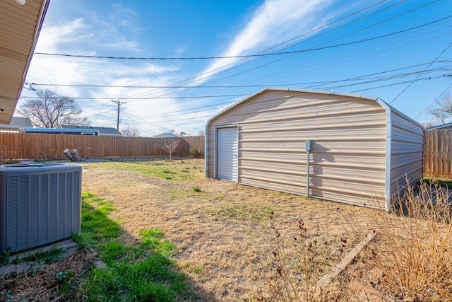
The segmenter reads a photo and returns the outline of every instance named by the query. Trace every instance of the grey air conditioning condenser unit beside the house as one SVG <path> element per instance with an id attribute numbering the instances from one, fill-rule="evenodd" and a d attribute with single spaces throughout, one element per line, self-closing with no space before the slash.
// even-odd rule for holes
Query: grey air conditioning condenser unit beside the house
<path id="1" fill-rule="evenodd" d="M 0 165 L 0 252 L 34 248 L 81 230 L 82 167 Z"/>

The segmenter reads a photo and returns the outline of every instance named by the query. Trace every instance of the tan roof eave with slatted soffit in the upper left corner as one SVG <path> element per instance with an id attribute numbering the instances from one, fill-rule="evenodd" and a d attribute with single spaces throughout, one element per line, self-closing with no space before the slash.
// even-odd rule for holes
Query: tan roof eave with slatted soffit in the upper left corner
<path id="1" fill-rule="evenodd" d="M 9 124 L 22 92 L 49 0 L 0 1 L 0 124 Z"/>

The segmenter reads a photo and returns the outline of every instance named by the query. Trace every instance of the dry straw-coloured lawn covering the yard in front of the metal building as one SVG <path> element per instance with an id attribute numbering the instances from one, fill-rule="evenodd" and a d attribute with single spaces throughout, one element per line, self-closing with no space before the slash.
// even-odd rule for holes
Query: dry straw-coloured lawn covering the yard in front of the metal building
<path id="1" fill-rule="evenodd" d="M 394 209 L 408 215 L 398 216 L 206 179 L 200 159 L 82 165 L 83 192 L 114 205 L 121 241 L 138 245 L 140 231 L 161 230 L 201 301 L 452 301 L 451 191 L 422 183 L 400 199 Z M 376 230 L 314 296 L 312 286 Z M 71 270 L 83 283 L 95 260 L 78 250 L 36 274 L 0 276 L 0 300 L 71 301 L 81 284 L 64 296 L 55 274 Z"/>

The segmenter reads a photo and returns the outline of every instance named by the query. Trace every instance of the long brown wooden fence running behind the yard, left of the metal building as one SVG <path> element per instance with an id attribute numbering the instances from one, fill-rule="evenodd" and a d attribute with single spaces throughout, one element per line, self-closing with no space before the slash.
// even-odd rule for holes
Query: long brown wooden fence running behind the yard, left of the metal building
<path id="1" fill-rule="evenodd" d="M 0 133 L 2 158 L 66 158 L 65 149 L 77 149 L 82 158 L 169 156 L 163 146 L 180 139 L 172 156 L 190 156 L 191 147 L 204 153 L 204 137 L 110 137 L 69 134 Z"/>

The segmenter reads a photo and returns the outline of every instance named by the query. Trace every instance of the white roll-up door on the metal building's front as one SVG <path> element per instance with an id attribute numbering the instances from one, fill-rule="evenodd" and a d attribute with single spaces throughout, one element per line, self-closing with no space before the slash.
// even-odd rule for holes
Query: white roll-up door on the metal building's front
<path id="1" fill-rule="evenodd" d="M 217 178 L 237 182 L 238 165 L 237 127 L 217 129 Z"/>

